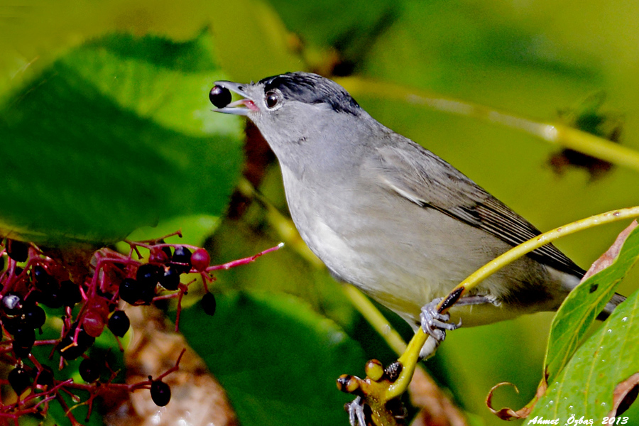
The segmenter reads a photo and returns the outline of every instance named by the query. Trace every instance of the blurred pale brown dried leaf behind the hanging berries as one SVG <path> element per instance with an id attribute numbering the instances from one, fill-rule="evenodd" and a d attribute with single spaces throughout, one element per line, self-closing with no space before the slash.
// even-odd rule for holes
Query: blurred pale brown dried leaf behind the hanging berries
<path id="1" fill-rule="evenodd" d="M 127 383 L 159 376 L 175 365 L 183 348 L 180 369 L 163 378 L 171 388 L 168 405 L 158 408 L 146 390 L 129 393 L 119 407 L 113 407 L 105 422 L 117 426 L 239 426 L 224 389 L 209 374 L 202 359 L 188 348 L 184 337 L 173 332 L 158 310 L 151 306 L 127 307 L 133 340 L 125 353 Z"/>

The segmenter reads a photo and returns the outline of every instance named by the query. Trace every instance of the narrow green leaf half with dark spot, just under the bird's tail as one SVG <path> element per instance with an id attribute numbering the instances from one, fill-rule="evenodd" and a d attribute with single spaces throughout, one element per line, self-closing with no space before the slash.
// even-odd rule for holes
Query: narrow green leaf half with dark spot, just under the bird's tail
<path id="1" fill-rule="evenodd" d="M 596 316 L 638 258 L 639 226 L 630 232 L 611 266 L 587 278 L 559 307 L 552 322 L 546 352 L 545 377 L 549 383 L 569 362 Z"/>

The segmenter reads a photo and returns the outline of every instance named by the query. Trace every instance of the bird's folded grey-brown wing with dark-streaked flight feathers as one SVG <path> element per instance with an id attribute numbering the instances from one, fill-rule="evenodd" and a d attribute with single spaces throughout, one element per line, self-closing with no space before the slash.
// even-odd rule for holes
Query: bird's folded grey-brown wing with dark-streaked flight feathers
<path id="1" fill-rule="evenodd" d="M 393 135 L 395 136 L 395 135 Z M 403 138 L 403 136 L 400 136 Z M 437 155 L 413 141 L 377 148 L 368 158 L 369 170 L 389 190 L 425 208 L 459 219 L 471 226 L 516 246 L 541 234 L 523 217 L 488 194 Z M 575 265 L 552 244 L 529 253 L 540 263 L 581 276 L 584 270 Z"/>

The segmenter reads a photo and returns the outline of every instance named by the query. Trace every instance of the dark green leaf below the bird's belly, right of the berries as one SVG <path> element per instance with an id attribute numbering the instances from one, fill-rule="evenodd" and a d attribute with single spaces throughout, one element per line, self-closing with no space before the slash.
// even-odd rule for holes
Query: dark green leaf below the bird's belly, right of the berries
<path id="1" fill-rule="evenodd" d="M 348 422 L 342 373 L 364 355 L 334 322 L 294 297 L 216 295 L 217 312 L 182 310 L 180 331 L 222 384 L 244 426 Z"/>

